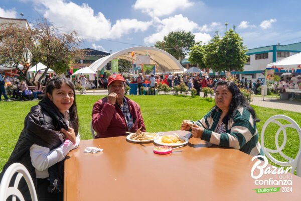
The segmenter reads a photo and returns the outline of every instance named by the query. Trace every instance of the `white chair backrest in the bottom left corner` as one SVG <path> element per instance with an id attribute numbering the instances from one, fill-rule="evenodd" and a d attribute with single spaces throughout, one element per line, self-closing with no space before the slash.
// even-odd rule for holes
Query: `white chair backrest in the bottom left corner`
<path id="1" fill-rule="evenodd" d="M 14 186 L 9 187 L 12 177 L 17 172 L 18 175 L 15 179 Z M 6 170 L 0 183 L 0 201 L 7 200 L 7 198 L 11 195 L 13 195 L 13 201 L 16 200 L 16 197 L 18 197 L 21 201 L 24 201 L 24 197 L 18 189 L 18 185 L 22 177 L 26 180 L 32 200 L 38 200 L 34 182 L 30 173 L 21 163 L 14 163 Z"/>

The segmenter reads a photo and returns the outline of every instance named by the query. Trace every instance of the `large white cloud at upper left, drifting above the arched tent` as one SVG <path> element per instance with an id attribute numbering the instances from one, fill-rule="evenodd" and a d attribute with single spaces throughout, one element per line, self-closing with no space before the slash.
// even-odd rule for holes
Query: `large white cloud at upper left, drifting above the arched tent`
<path id="1" fill-rule="evenodd" d="M 88 4 L 77 5 L 64 0 L 33 2 L 43 7 L 44 17 L 60 30 L 76 30 L 82 39 L 90 41 L 120 38 L 131 31 L 145 31 L 152 24 L 136 19 L 121 19 L 112 25 L 102 13 L 95 14 Z"/>

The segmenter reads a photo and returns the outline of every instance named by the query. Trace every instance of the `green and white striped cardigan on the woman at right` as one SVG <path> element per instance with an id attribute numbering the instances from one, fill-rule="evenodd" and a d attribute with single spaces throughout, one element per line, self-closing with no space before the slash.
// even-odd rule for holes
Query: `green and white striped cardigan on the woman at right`
<path id="1" fill-rule="evenodd" d="M 204 128 L 202 140 L 223 147 L 232 147 L 252 156 L 264 155 L 258 142 L 257 126 L 251 113 L 246 108 L 235 111 L 233 119 L 226 125 L 227 133 L 215 133 L 222 111 L 213 108 L 203 119 L 192 121 Z"/>

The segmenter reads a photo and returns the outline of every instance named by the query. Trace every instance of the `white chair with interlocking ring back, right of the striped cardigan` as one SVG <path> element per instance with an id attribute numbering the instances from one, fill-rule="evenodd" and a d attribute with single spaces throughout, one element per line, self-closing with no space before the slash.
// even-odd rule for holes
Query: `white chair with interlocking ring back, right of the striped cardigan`
<path id="1" fill-rule="evenodd" d="M 286 120 L 289 122 L 289 124 L 284 124 L 282 125 L 282 123 L 280 123 L 278 120 Z M 266 148 L 264 146 L 264 132 L 266 127 L 268 126 L 269 123 L 274 123 L 277 124 L 279 126 L 279 129 L 276 131 L 276 135 L 275 135 L 275 145 L 276 145 L 276 149 L 269 149 Z M 289 156 L 286 156 L 282 150 L 285 147 L 286 144 L 286 140 L 287 140 L 287 136 L 286 136 L 286 128 L 293 128 L 297 131 L 298 135 L 299 135 L 299 140 L 301 141 L 301 129 L 298 126 L 298 124 L 292 120 L 291 118 L 284 116 L 284 115 L 275 115 L 271 118 L 269 118 L 263 125 L 262 127 L 262 131 L 261 131 L 261 147 L 262 150 L 265 154 L 266 157 L 268 157 L 273 163 L 277 164 L 277 165 L 281 165 L 281 166 L 291 166 L 291 170 L 290 173 L 294 173 L 295 170 L 297 170 L 297 175 L 301 176 L 301 143 L 299 144 L 299 150 L 298 153 L 296 155 L 295 158 L 291 158 Z M 283 133 L 283 142 L 282 145 L 279 146 L 278 143 L 278 137 L 280 132 L 282 131 Z M 270 153 L 279 153 L 283 158 L 285 158 L 286 160 L 288 160 L 288 162 L 281 162 L 276 160 Z"/>

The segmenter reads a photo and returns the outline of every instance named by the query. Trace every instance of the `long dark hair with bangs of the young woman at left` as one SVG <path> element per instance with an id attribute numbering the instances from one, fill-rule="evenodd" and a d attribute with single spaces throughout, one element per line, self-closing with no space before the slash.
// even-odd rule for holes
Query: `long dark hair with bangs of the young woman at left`
<path id="1" fill-rule="evenodd" d="M 78 115 L 77 115 L 77 107 L 76 107 L 76 99 L 75 99 L 75 86 L 73 82 L 70 79 L 67 79 L 66 77 L 60 77 L 56 76 L 49 80 L 47 86 L 46 86 L 46 95 L 47 93 L 52 94 L 53 90 L 55 88 L 61 88 L 62 85 L 66 83 L 74 93 L 74 101 L 72 106 L 69 109 L 69 116 L 70 116 L 70 124 L 71 127 L 74 129 L 75 134 L 77 135 L 78 133 Z"/>

